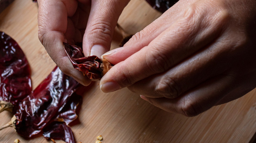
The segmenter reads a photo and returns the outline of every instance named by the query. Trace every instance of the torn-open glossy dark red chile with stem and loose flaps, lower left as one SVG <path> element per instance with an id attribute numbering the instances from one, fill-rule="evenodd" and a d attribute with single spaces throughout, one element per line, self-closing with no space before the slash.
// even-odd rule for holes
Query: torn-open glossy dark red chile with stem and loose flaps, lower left
<path id="1" fill-rule="evenodd" d="M 42 132 L 47 139 L 55 138 L 75 143 L 68 124 L 77 118 L 75 110 L 81 96 L 75 94 L 75 90 L 79 86 L 81 85 L 72 77 L 55 67 L 46 79 L 19 103 L 9 126 L 25 137 Z M 55 132 L 59 128 L 62 130 Z"/>

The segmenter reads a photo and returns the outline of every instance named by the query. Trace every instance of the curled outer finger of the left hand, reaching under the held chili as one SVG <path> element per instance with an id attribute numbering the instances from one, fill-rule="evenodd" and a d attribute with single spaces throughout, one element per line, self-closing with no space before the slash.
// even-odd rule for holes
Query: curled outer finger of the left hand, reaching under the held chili
<path id="1" fill-rule="evenodd" d="M 68 24 L 67 17 L 75 13 L 77 2 L 75 0 L 39 0 L 38 6 L 39 40 L 63 73 L 72 76 L 83 85 L 88 85 L 90 80 L 73 68 L 63 49 L 63 42 L 67 42 L 64 36 Z"/>

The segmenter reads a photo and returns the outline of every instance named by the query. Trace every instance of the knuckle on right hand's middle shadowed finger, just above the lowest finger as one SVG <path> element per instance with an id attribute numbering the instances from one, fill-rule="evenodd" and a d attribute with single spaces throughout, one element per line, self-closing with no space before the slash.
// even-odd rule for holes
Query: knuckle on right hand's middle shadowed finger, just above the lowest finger
<path id="1" fill-rule="evenodd" d="M 179 96 L 180 88 L 170 77 L 163 77 L 155 87 L 155 91 L 166 98 L 176 98 Z"/>

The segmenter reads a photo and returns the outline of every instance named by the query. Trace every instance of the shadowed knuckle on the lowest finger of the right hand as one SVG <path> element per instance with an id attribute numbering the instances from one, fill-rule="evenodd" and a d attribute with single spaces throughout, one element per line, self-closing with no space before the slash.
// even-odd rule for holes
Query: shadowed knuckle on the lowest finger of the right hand
<path id="1" fill-rule="evenodd" d="M 187 117 L 197 116 L 202 112 L 197 103 L 190 98 L 184 98 L 182 102 L 178 103 L 178 110 Z"/>

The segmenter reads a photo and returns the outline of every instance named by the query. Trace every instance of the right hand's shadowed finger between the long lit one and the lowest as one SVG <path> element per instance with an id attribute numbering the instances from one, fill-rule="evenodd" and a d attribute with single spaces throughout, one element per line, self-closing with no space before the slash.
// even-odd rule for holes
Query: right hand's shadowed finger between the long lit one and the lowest
<path id="1" fill-rule="evenodd" d="M 228 46 L 215 43 L 170 70 L 149 76 L 128 88 L 147 97 L 176 98 L 207 79 L 227 71 L 230 68 L 229 61 L 221 55 L 228 55 L 228 51 L 223 48 Z"/>

